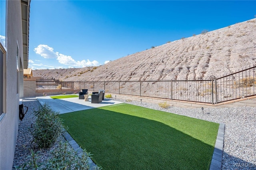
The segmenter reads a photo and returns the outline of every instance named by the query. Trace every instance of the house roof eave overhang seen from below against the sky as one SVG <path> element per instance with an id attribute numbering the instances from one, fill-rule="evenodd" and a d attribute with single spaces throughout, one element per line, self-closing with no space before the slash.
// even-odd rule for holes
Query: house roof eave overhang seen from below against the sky
<path id="1" fill-rule="evenodd" d="M 30 0 L 21 0 L 22 11 L 22 40 L 23 40 L 23 68 L 28 68 L 28 40 Z"/>

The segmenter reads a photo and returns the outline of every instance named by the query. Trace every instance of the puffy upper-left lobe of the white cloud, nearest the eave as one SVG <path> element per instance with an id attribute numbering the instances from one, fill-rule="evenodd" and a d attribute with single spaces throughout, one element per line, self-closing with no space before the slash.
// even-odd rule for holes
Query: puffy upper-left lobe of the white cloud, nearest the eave
<path id="1" fill-rule="evenodd" d="M 34 51 L 41 55 L 44 58 L 57 58 L 58 52 L 54 52 L 52 47 L 49 47 L 48 45 L 38 45 L 36 48 L 34 48 Z"/>

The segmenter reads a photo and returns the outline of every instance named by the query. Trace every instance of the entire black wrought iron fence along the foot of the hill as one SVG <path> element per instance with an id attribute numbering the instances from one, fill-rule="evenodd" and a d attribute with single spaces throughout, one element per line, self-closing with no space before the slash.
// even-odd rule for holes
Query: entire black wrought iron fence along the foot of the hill
<path id="1" fill-rule="evenodd" d="M 80 90 L 98 91 L 202 103 L 221 103 L 256 95 L 256 66 L 208 80 L 149 81 L 37 81 L 36 91 Z"/>

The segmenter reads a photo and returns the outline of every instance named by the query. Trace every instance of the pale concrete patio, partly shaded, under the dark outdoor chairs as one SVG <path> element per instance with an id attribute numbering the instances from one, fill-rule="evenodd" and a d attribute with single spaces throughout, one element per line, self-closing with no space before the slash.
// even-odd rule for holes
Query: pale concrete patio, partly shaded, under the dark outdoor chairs
<path id="1" fill-rule="evenodd" d="M 122 103 L 106 98 L 101 103 L 91 103 L 91 96 L 89 96 L 89 101 L 78 99 L 78 96 L 64 99 L 52 99 L 50 96 L 42 96 L 36 97 L 36 99 L 41 105 L 47 103 L 53 111 L 59 112 L 60 114 Z"/>

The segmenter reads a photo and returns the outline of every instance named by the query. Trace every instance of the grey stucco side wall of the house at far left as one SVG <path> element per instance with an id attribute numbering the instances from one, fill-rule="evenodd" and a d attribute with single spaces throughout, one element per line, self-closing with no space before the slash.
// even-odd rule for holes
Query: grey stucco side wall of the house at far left
<path id="1" fill-rule="evenodd" d="M 6 1 L 6 50 L 6 112 L 0 120 L 0 170 L 12 169 L 18 134 L 20 90 L 23 95 L 21 0 Z"/>

